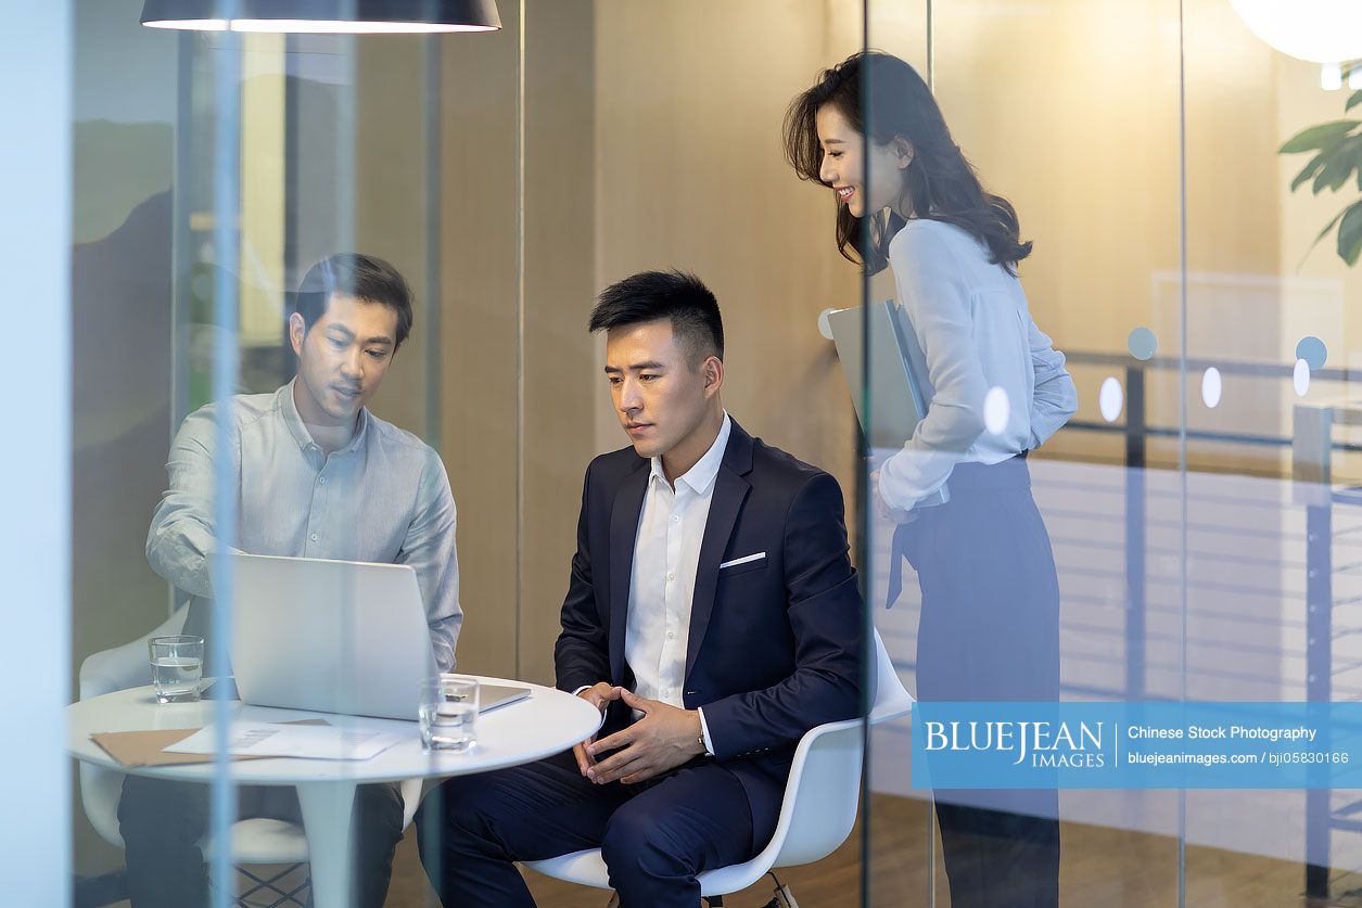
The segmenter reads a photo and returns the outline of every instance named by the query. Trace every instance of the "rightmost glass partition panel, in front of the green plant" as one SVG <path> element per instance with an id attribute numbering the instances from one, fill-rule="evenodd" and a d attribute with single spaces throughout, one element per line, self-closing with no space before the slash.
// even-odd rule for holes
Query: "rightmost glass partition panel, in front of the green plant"
<path id="1" fill-rule="evenodd" d="M 1354 208 L 1355 223 L 1359 187 L 1355 139 L 1314 127 L 1357 125 L 1358 11 L 1321 8 L 1293 45 L 1301 16 L 1229 5 L 1182 16 L 1185 696 L 1339 715 L 1358 700 L 1347 414 L 1362 274 L 1355 233 L 1331 219 Z M 1188 792 L 1189 903 L 1348 897 L 1355 787 L 1316 771 L 1305 792 Z"/>

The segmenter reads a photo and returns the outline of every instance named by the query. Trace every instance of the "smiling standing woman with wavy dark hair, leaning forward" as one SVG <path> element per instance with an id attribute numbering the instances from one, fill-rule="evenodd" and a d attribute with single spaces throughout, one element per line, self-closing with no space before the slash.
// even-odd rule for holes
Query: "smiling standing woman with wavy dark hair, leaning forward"
<path id="1" fill-rule="evenodd" d="M 918 572 L 918 697 L 1056 701 L 1060 595 L 1026 457 L 1077 395 L 1017 280 L 1031 244 L 1016 210 L 983 189 L 917 71 L 884 53 L 853 54 L 798 95 L 785 148 L 836 193 L 842 255 L 866 275 L 893 270 L 915 346 L 906 334 L 902 365 L 877 368 L 907 368 L 930 389 L 902 449 L 873 451 L 884 460 L 868 476 L 898 524 L 878 570 L 892 577 L 906 557 Z M 953 905 L 1002 904 L 1002 892 L 1058 904 L 1056 792 L 938 791 L 936 813 Z"/>

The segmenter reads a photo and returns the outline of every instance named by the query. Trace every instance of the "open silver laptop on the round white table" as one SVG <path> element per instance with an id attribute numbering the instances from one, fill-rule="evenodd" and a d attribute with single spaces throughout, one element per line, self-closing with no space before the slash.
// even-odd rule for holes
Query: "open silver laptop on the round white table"
<path id="1" fill-rule="evenodd" d="M 232 664 L 241 700 L 415 720 L 436 671 L 417 574 L 407 565 L 232 555 Z M 484 685 L 481 709 L 530 696 Z"/>

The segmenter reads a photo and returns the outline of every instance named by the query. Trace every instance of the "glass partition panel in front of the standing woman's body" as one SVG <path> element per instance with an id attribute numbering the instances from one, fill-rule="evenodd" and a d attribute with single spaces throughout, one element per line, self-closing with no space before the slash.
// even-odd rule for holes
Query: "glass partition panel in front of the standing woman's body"
<path id="1" fill-rule="evenodd" d="M 885 494 L 944 481 L 947 501 L 869 523 L 872 588 L 904 573 L 895 603 L 872 592 L 874 625 L 925 707 L 985 701 L 1001 711 L 990 717 L 1017 719 L 1012 701 L 1178 700 L 1178 4 L 917 12 L 869 3 L 868 45 L 908 61 L 940 105 L 949 136 L 923 129 L 925 161 L 908 165 L 923 176 L 907 185 L 947 218 L 906 226 L 866 305 L 898 299 L 928 383 L 947 384 L 933 406 L 970 417 L 923 423 L 903 463 L 883 467 L 896 482 L 881 481 Z M 892 121 L 910 87 L 872 72 L 866 116 Z M 962 203 L 970 180 L 952 144 L 993 199 Z M 1141 328 L 1155 359 L 1133 350 Z M 893 407 L 887 398 L 872 408 Z M 914 716 L 914 734 L 930 717 Z M 869 904 L 908 889 L 923 904 L 1179 904 L 1177 792 L 933 792 L 906 728 L 877 728 L 872 745 Z M 896 826 L 918 848 L 876 851 Z"/>

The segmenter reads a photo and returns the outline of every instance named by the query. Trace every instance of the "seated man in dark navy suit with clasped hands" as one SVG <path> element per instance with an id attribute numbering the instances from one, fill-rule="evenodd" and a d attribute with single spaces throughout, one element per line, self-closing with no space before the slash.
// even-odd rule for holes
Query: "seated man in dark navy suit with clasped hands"
<path id="1" fill-rule="evenodd" d="M 697 874 L 771 837 L 804 732 L 862 707 L 842 491 L 725 412 L 714 294 L 639 274 L 590 329 L 632 447 L 587 468 L 554 664 L 605 721 L 426 799 L 421 859 L 449 908 L 533 905 L 515 860 L 595 847 L 624 908 L 695 908 Z"/>

